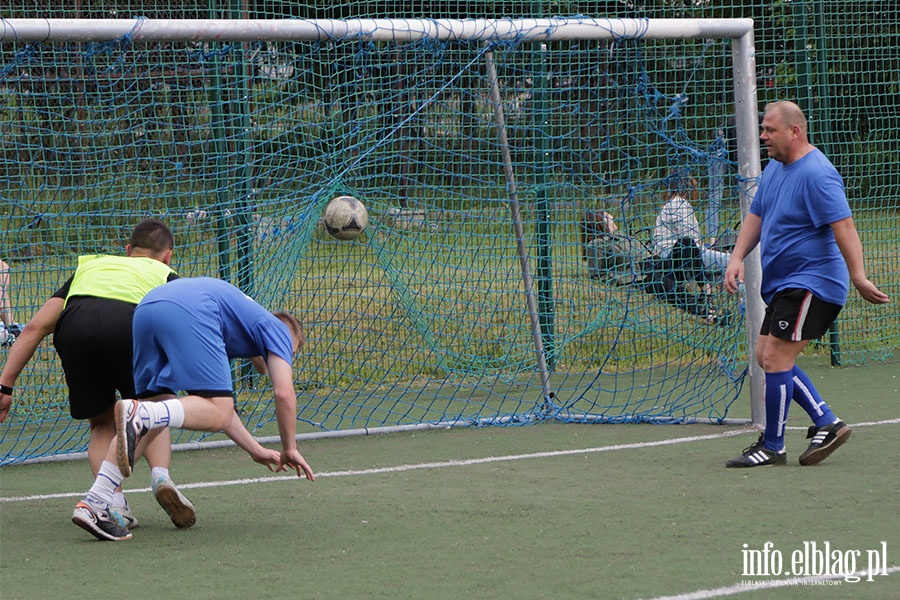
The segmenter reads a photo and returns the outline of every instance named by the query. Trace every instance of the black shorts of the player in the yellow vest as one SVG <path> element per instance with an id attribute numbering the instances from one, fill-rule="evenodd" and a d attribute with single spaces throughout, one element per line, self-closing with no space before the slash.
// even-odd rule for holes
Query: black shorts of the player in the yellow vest
<path id="1" fill-rule="evenodd" d="M 56 323 L 53 345 L 69 386 L 73 419 L 90 419 L 113 406 L 116 390 L 134 398 L 131 321 L 134 305 L 107 298 L 70 298 Z"/>

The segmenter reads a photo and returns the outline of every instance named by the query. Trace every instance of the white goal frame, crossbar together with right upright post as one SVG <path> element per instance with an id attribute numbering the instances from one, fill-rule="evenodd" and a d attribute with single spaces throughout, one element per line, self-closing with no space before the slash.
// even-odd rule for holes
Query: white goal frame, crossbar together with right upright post
<path id="1" fill-rule="evenodd" d="M 330 41 L 358 37 L 371 41 L 529 41 L 628 39 L 731 39 L 737 170 L 741 215 L 746 216 L 760 175 L 756 65 L 751 19 L 5 19 L 0 42 L 132 43 Z M 746 260 L 746 326 L 751 419 L 764 423 L 763 374 L 755 348 L 762 322 L 759 255 Z"/>

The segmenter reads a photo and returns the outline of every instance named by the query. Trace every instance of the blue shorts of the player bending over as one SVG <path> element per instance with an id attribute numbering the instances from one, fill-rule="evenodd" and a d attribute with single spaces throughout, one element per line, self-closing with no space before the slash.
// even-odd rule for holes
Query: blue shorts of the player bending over
<path id="1" fill-rule="evenodd" d="M 185 391 L 233 396 L 222 332 L 171 302 L 139 304 L 134 311 L 134 387 L 139 398 Z"/>

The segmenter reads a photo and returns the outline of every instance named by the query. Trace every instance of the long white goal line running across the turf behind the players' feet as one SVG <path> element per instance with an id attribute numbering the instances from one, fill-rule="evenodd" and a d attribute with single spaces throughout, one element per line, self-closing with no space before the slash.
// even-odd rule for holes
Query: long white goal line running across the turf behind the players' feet
<path id="1" fill-rule="evenodd" d="M 900 419 L 890 419 L 887 421 L 873 421 L 869 423 L 854 423 L 853 427 L 872 427 L 875 425 L 893 425 L 900 424 Z M 710 435 L 694 435 L 682 438 L 672 438 L 668 440 L 658 440 L 653 442 L 636 442 L 633 444 L 614 444 L 612 446 L 598 446 L 595 448 L 580 448 L 577 450 L 553 450 L 547 452 L 531 452 L 528 454 L 510 454 L 506 456 L 486 456 L 482 458 L 469 458 L 464 460 L 447 460 L 441 462 L 419 463 L 410 465 L 397 465 L 394 467 L 379 467 L 376 469 L 358 469 L 352 471 L 331 471 L 317 473 L 316 479 L 325 479 L 328 477 L 359 477 L 364 475 L 379 475 L 384 473 L 401 473 L 404 471 L 418 471 L 423 469 L 445 469 L 450 467 L 467 467 L 471 465 L 481 465 L 487 463 L 510 462 L 516 460 L 526 460 L 533 458 L 553 458 L 557 456 L 571 456 L 573 454 L 596 454 L 599 452 L 614 452 L 616 450 L 640 450 L 642 448 L 656 448 L 660 446 L 672 446 L 675 444 L 687 444 L 690 442 L 702 442 L 705 440 L 717 440 L 722 438 L 735 437 L 757 431 L 752 428 L 741 428 L 722 433 L 714 433 Z M 199 489 L 211 487 L 225 487 L 231 485 L 247 485 L 252 483 L 271 483 L 276 481 L 293 481 L 299 479 L 293 475 L 272 475 L 269 477 L 254 477 L 250 479 L 232 479 L 229 481 L 205 481 L 200 483 L 179 483 L 179 489 Z M 129 494 L 149 492 L 150 488 L 136 488 L 127 490 Z M 84 491 L 67 492 L 62 494 L 40 494 L 34 496 L 8 496 L 0 497 L 2 502 L 28 502 L 31 500 L 53 500 L 56 498 L 81 498 Z"/>

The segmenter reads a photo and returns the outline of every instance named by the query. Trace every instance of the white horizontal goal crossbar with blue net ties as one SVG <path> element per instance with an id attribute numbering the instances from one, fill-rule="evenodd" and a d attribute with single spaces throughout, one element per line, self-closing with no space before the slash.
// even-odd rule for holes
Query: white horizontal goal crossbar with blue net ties
<path id="1" fill-rule="evenodd" d="M 0 19 L 0 42 L 24 43 L 734 39 L 752 31 L 752 19 Z"/>

